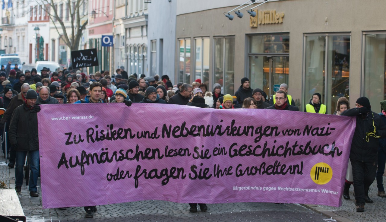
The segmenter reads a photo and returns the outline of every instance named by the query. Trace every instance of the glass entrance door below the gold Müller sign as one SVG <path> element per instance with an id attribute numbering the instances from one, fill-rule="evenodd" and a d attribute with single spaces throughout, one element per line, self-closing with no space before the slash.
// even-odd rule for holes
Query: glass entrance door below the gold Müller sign
<path id="1" fill-rule="evenodd" d="M 288 67 L 289 56 L 249 56 L 251 88 L 261 88 L 271 98 L 277 85 L 288 85 Z"/>

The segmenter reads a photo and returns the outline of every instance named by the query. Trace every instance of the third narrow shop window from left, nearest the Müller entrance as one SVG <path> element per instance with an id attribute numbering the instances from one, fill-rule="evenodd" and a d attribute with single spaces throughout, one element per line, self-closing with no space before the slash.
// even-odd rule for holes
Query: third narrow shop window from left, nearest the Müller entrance
<path id="1" fill-rule="evenodd" d="M 214 83 L 221 85 L 223 94 L 234 93 L 235 38 L 214 39 Z M 213 89 L 212 89 L 213 90 Z"/>

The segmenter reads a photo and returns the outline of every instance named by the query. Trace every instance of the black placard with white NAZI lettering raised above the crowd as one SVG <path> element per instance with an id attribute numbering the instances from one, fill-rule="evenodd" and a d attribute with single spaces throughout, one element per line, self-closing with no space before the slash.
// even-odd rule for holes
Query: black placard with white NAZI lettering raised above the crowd
<path id="1" fill-rule="evenodd" d="M 73 68 L 98 66 L 97 49 L 71 51 Z"/>

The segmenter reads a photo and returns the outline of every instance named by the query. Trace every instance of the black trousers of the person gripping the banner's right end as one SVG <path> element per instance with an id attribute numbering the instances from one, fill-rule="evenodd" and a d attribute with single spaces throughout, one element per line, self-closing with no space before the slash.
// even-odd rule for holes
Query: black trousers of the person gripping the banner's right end
<path id="1" fill-rule="evenodd" d="M 368 195 L 369 187 L 375 180 L 377 162 L 362 162 L 353 159 L 350 161 L 354 178 L 355 202 L 364 204 L 365 195 Z"/>

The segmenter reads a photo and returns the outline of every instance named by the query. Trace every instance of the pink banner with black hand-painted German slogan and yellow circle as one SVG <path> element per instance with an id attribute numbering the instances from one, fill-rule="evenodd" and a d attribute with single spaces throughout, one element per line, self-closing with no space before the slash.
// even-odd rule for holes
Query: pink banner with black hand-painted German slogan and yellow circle
<path id="1" fill-rule="evenodd" d="M 354 117 L 142 103 L 41 105 L 38 121 L 43 208 L 340 206 L 355 129 Z"/>

